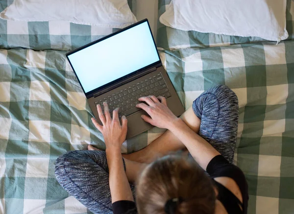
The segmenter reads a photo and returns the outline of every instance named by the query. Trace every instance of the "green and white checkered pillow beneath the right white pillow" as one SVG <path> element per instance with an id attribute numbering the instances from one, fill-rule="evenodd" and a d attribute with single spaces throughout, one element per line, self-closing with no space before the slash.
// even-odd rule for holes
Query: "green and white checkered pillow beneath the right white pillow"
<path id="1" fill-rule="evenodd" d="M 166 6 L 171 0 L 159 0 L 158 2 L 158 17 L 165 11 Z M 289 33 L 288 40 L 294 39 L 294 1 L 287 0 L 286 10 L 286 28 Z M 157 29 L 157 47 L 164 49 L 178 49 L 178 48 L 207 48 L 229 46 L 234 44 L 265 42 L 266 40 L 259 37 L 240 37 L 219 35 L 214 33 L 200 33 L 196 31 L 183 31 L 167 27 L 158 21 Z"/>

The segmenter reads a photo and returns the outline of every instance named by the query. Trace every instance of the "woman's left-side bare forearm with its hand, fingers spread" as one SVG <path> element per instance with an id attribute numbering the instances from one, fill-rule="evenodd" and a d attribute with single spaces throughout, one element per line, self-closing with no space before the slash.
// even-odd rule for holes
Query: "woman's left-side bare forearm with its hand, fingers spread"
<path id="1" fill-rule="evenodd" d="M 123 116 L 122 125 L 119 120 L 119 108 L 113 111 L 111 118 L 108 105 L 104 105 L 104 115 L 100 105 L 97 105 L 99 125 L 96 119 L 92 118 L 95 127 L 102 133 L 106 145 L 106 157 L 109 168 L 109 186 L 112 203 L 116 201 L 134 201 L 131 188 L 129 186 L 124 167 L 121 147 L 126 138 L 127 119 Z"/>

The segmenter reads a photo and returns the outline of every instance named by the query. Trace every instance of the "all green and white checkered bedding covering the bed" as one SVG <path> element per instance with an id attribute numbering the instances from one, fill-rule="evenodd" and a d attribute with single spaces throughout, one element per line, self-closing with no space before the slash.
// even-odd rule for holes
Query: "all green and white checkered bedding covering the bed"
<path id="1" fill-rule="evenodd" d="M 159 15 L 170 0 L 159 0 Z M 11 0 L 0 0 L 4 9 Z M 128 0 L 135 11 L 136 1 Z M 157 45 L 187 109 L 203 91 L 225 84 L 238 95 L 235 163 L 249 184 L 248 214 L 294 210 L 294 42 L 181 32 L 158 24 Z M 0 213 L 90 214 L 54 177 L 56 158 L 94 144 L 104 149 L 93 114 L 65 53 L 116 31 L 66 22 L 0 20 Z M 183 39 L 185 38 L 185 39 Z M 187 42 L 189 41 L 189 42 Z M 140 150 L 165 130 L 123 143 Z"/>

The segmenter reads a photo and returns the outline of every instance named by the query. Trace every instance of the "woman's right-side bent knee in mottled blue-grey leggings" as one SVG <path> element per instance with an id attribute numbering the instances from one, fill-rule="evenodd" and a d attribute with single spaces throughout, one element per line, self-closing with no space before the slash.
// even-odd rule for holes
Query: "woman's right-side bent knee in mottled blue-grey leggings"
<path id="1" fill-rule="evenodd" d="M 219 85 L 202 93 L 192 108 L 201 119 L 199 136 L 233 163 L 239 118 L 237 95 L 227 86 Z"/>

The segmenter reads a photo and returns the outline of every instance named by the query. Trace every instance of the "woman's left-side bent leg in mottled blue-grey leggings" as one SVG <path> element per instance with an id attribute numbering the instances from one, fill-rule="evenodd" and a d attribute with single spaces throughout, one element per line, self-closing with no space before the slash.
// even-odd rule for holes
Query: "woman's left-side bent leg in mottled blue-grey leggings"
<path id="1" fill-rule="evenodd" d="M 112 214 L 108 173 L 104 151 L 68 152 L 55 164 L 59 184 L 95 214 Z"/>

